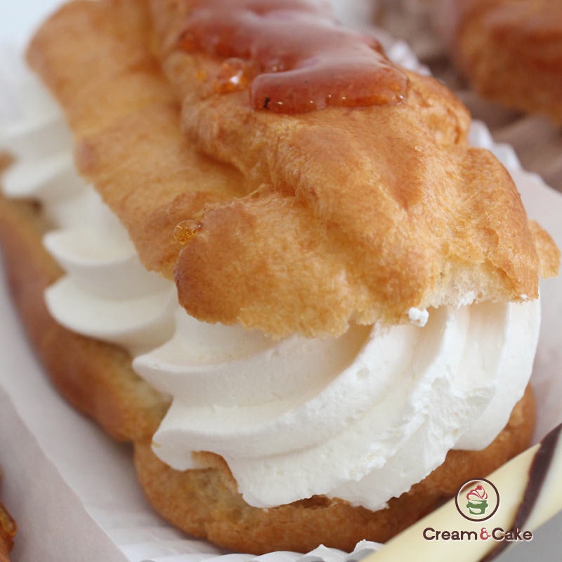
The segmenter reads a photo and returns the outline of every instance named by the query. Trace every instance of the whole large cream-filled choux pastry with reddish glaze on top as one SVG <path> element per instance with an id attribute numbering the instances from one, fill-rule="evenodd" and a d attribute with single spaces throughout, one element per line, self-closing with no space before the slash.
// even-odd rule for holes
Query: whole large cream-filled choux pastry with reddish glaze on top
<path id="1" fill-rule="evenodd" d="M 71 2 L 28 60 L 80 177 L 52 107 L 8 131 L 46 370 L 164 518 L 240 551 L 384 542 L 535 420 L 558 249 L 452 93 L 324 10 Z"/>

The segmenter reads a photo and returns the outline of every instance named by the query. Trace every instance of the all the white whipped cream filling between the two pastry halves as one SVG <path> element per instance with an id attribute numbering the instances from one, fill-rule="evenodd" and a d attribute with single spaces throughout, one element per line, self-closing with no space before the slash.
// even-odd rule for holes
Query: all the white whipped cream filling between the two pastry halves
<path id="1" fill-rule="evenodd" d="M 41 201 L 53 224 L 44 244 L 67 275 L 47 306 L 74 332 L 128 348 L 136 372 L 173 398 L 154 436 L 164 462 L 184 470 L 192 451 L 222 455 L 256 507 L 324 494 L 379 509 L 448 450 L 482 449 L 507 423 L 532 370 L 538 301 L 411 309 L 412 325 L 338 339 L 199 322 L 77 176 L 48 94 L 32 78 L 25 91 L 20 119 L 0 129 L 18 157 L 4 190 Z M 30 116 L 28 105 L 43 109 Z"/>

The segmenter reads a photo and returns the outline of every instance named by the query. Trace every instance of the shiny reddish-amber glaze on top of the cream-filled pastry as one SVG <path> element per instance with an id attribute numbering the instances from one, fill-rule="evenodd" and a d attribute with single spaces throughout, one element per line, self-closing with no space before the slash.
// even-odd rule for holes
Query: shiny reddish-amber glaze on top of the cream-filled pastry
<path id="1" fill-rule="evenodd" d="M 225 58 L 220 93 L 250 86 L 254 109 L 300 113 L 328 106 L 395 105 L 407 77 L 373 37 L 341 27 L 306 0 L 185 0 L 179 46 Z"/>

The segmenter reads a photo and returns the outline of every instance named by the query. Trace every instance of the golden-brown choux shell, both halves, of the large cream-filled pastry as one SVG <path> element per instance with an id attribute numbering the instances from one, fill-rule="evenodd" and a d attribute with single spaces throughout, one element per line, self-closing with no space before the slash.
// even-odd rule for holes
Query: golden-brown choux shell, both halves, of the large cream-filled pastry
<path id="1" fill-rule="evenodd" d="M 469 116 L 437 81 L 393 67 L 373 44 L 389 76 L 370 105 L 322 96 L 321 111 L 301 111 L 299 100 L 288 114 L 256 109 L 251 84 L 263 69 L 225 65 L 228 48 L 207 52 L 188 33 L 190 6 L 152 2 L 153 32 L 143 1 L 72 2 L 41 27 L 28 56 L 66 112 L 82 174 L 145 266 L 175 276 L 192 315 L 275 336 L 341 334 L 351 320 L 401 322 L 412 306 L 458 303 L 469 289 L 481 299 L 534 298 L 539 273 L 556 272 L 554 243 L 528 223 L 507 171 L 469 148 Z M 232 70 L 251 79 L 225 92 Z M 174 239 L 182 221 L 202 225 L 179 237 L 184 245 Z M 530 389 L 488 447 L 450 451 L 387 509 L 324 496 L 250 507 L 221 457 L 200 453 L 207 468 L 183 472 L 159 461 L 150 443 L 168 400 L 122 348 L 48 314 L 43 292 L 62 272 L 41 247 L 45 228 L 37 206 L 0 198 L 8 279 L 30 339 L 61 393 L 135 444 L 148 499 L 193 535 L 254 553 L 385 541 L 529 443 Z"/>

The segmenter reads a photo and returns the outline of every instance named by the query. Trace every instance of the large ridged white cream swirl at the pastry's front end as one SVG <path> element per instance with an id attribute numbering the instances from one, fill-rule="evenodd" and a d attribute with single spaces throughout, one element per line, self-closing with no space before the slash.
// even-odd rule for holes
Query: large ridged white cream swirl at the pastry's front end
<path id="1" fill-rule="evenodd" d="M 202 333 L 180 312 L 174 338 L 133 367 L 174 397 L 154 436 L 170 466 L 211 450 L 251 505 L 326 494 L 379 509 L 452 447 L 481 449 L 502 430 L 529 379 L 539 310 L 444 307 L 423 329 L 277 343 L 237 327 Z"/>

